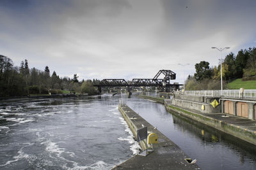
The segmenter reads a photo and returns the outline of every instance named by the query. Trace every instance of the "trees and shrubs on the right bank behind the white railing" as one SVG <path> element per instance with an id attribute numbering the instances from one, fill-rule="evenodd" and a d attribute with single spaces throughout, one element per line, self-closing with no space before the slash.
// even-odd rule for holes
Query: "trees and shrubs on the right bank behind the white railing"
<path id="1" fill-rule="evenodd" d="M 242 81 L 256 80 L 256 48 L 241 49 L 237 55 L 230 52 L 221 67 L 223 89 L 227 89 L 227 83 L 237 78 L 242 78 Z M 220 64 L 210 67 L 207 61 L 196 63 L 196 73 L 188 76 L 186 90 L 220 89 L 221 67 Z"/>

